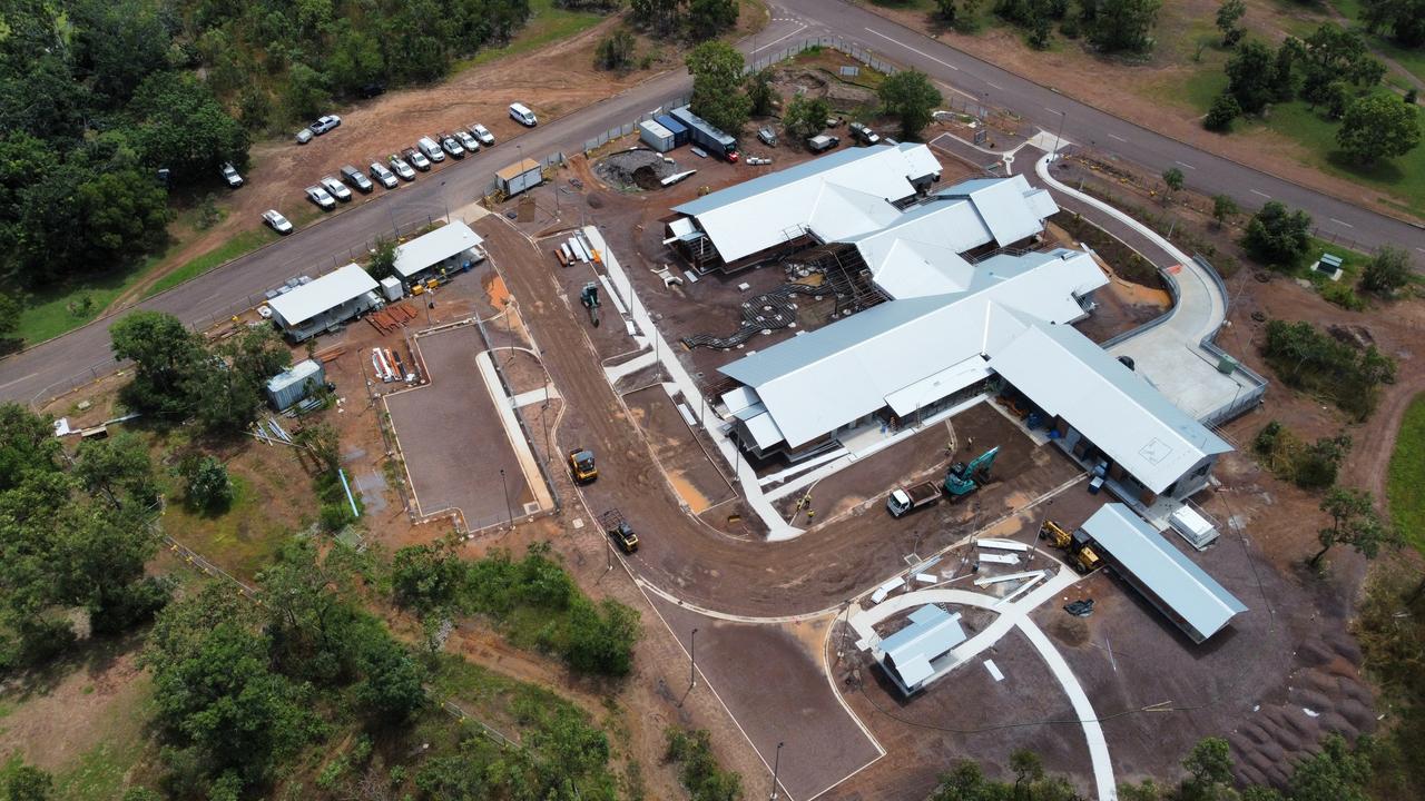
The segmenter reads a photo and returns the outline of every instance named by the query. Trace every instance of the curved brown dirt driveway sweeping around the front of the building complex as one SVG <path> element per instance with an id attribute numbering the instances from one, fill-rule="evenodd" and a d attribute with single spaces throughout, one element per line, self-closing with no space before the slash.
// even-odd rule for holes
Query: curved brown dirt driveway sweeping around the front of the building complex
<path id="1" fill-rule="evenodd" d="M 940 505 L 901 520 L 871 510 L 794 540 L 768 543 L 725 534 L 684 515 L 648 445 L 634 433 L 628 408 L 610 388 L 586 335 L 586 318 L 569 308 L 549 255 L 503 218 L 486 217 L 476 231 L 486 238 L 540 358 L 569 403 L 557 432 L 559 446 L 593 448 L 598 455 L 600 479 L 584 487 L 583 496 L 593 513 L 617 506 L 641 532 L 643 544 L 630 562 L 651 586 L 690 604 L 732 614 L 819 611 L 903 570 L 903 556 L 912 550 L 931 553 L 959 539 L 975 520 L 976 505 L 970 503 Z M 1002 459 L 998 467 L 1003 480 L 979 493 L 982 520 L 1023 509 L 1079 472 L 1057 452 L 1030 450 L 1029 440 L 986 405 L 958 415 L 952 423 L 980 448 L 1005 442 L 1006 450 L 1020 455 Z M 945 439 L 938 426 L 916 436 Z M 882 476 L 886 485 L 899 469 L 888 467 L 891 472 Z"/>

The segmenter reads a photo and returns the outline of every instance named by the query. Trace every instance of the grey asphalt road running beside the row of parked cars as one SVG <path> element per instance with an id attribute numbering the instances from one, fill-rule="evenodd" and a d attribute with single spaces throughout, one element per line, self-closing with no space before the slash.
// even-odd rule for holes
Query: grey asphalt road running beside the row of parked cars
<path id="1" fill-rule="evenodd" d="M 760 51 L 778 46 L 798 23 L 777 20 L 758 36 Z M 750 51 L 751 43 L 742 50 Z M 351 259 L 352 247 L 361 247 L 393 227 L 408 229 L 428 217 L 443 217 L 446 207 L 472 202 L 494 178 L 494 171 L 514 162 L 520 154 L 542 158 L 556 151 L 579 153 L 583 143 L 623 125 L 640 114 L 685 97 L 691 90 L 687 73 L 674 70 L 610 97 L 569 117 L 544 123 L 524 134 L 482 150 L 465 161 L 447 160 L 442 168 L 422 174 L 413 184 L 386 192 L 375 201 L 323 218 L 319 224 L 286 237 L 279 244 L 235 259 L 195 281 L 150 298 L 138 308 L 178 315 L 184 322 L 207 322 L 231 314 L 235 304 L 261 295 L 295 275 L 318 275 Z M 378 192 L 382 190 L 378 190 Z M 16 353 L 0 362 L 0 400 L 28 403 L 34 398 L 68 388 L 68 382 L 88 373 L 113 369 L 108 351 L 108 326 L 114 316 L 94 321 L 57 339 Z"/>

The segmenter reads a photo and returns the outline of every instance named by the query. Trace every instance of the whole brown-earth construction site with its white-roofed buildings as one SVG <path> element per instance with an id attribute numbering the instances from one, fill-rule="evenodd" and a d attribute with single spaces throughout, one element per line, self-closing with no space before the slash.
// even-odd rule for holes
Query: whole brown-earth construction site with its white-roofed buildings
<path id="1" fill-rule="evenodd" d="M 235 322 L 336 388 L 363 537 L 551 540 L 665 640 L 634 703 L 691 700 L 797 801 L 923 794 L 945 753 L 1016 747 L 1112 798 L 1244 708 L 1253 777 L 1371 728 L 1359 654 L 1243 534 L 1230 423 L 1264 382 L 1197 352 L 1201 322 L 1181 363 L 1134 351 L 1167 291 L 1057 227 L 1067 195 L 939 145 L 657 187 L 638 171 L 673 164 L 618 153 Z M 1168 316 L 1210 316 L 1188 279 Z M 1196 395 L 1159 372 L 1201 365 Z"/>

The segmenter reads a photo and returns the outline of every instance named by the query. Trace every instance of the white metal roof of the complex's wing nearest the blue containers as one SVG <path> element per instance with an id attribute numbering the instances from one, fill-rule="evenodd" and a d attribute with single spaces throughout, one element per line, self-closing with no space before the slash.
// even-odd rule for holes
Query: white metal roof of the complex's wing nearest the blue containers
<path id="1" fill-rule="evenodd" d="M 822 241 L 888 225 L 911 181 L 939 175 L 923 144 L 846 148 L 712 192 L 674 211 L 694 217 L 722 261 L 764 251 L 811 229 Z M 832 191 L 825 191 L 828 187 Z"/>

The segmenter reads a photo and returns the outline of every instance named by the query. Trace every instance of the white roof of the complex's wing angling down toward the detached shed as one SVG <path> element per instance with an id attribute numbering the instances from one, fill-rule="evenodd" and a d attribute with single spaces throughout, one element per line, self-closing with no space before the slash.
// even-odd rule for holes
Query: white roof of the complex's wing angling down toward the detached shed
<path id="1" fill-rule="evenodd" d="M 1206 456 L 1231 450 L 1143 376 L 1067 325 L 1036 321 L 993 353 L 989 366 L 1156 493 Z"/>

